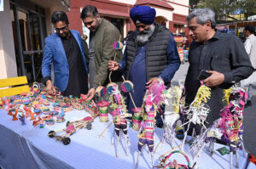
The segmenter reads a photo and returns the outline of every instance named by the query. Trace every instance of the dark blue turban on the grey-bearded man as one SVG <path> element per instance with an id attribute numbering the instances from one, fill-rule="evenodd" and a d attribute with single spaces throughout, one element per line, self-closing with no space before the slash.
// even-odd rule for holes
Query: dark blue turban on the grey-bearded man
<path id="1" fill-rule="evenodd" d="M 154 23 L 155 9 L 148 6 L 135 5 L 130 11 L 131 20 L 136 24 L 137 20 L 145 25 Z"/>

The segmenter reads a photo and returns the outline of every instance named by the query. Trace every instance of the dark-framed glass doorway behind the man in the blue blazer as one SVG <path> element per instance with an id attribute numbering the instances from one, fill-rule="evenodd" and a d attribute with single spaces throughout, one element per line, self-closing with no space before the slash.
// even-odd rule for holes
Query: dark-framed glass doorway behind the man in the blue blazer
<path id="1" fill-rule="evenodd" d="M 26 76 L 29 83 L 41 82 L 42 79 L 44 37 L 47 33 L 44 9 L 39 11 L 43 14 L 10 3 L 18 76 Z"/>

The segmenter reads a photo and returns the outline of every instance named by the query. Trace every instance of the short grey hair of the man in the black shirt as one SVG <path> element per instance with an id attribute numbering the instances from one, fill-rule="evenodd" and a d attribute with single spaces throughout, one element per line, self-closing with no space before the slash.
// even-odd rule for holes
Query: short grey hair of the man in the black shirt
<path id="1" fill-rule="evenodd" d="M 196 18 L 197 23 L 200 25 L 204 25 L 207 21 L 211 22 L 212 28 L 215 28 L 215 13 L 211 8 L 197 8 L 195 9 L 189 16 L 187 17 L 187 21 Z"/>

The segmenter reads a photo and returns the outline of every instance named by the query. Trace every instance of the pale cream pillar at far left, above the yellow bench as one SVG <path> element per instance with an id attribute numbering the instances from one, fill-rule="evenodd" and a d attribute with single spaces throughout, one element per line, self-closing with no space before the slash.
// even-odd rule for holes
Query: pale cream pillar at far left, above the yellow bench
<path id="1" fill-rule="evenodd" d="M 9 0 L 4 0 L 3 8 L 0 11 L 0 79 L 18 76 Z"/>

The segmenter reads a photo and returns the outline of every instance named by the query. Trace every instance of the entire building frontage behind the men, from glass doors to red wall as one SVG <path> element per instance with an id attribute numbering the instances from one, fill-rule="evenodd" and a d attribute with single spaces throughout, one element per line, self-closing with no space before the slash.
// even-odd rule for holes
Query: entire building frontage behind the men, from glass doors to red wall
<path id="1" fill-rule="evenodd" d="M 116 25 L 126 37 L 135 25 L 129 17 L 134 5 L 148 5 L 156 10 L 155 22 L 174 34 L 187 35 L 186 17 L 189 0 L 2 0 L 0 11 L 0 79 L 26 76 L 28 82 L 40 82 L 44 38 L 54 33 L 51 14 L 67 12 L 70 28 L 89 35 L 80 19 L 84 6 L 98 8 L 105 19 Z M 2 5 L 1 5 L 2 7 Z M 68 12 L 69 11 L 69 12 Z"/>

